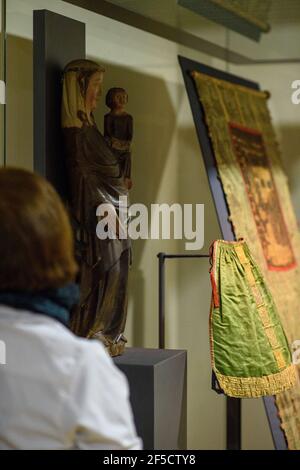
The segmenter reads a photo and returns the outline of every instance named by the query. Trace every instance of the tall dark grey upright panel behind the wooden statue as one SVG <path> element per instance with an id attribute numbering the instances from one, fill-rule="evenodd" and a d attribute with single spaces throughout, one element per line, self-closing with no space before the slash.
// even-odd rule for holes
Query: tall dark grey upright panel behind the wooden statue
<path id="1" fill-rule="evenodd" d="M 48 10 L 34 12 L 34 170 L 66 197 L 60 125 L 62 71 L 85 58 L 85 24 Z"/>

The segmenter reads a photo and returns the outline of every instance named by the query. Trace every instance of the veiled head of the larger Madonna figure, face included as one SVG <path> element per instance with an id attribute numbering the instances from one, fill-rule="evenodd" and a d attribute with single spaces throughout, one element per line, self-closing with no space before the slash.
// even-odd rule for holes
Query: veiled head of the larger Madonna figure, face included
<path id="1" fill-rule="evenodd" d="M 102 94 L 105 69 L 91 60 L 74 60 L 63 72 L 62 126 L 92 124 L 92 113 Z"/>

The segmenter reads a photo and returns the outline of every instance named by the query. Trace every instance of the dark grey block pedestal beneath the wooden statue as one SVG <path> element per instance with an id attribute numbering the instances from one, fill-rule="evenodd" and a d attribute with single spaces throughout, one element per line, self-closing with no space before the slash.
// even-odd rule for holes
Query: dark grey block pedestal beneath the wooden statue
<path id="1" fill-rule="evenodd" d="M 127 348 L 114 362 L 129 381 L 144 449 L 186 449 L 186 351 Z"/>

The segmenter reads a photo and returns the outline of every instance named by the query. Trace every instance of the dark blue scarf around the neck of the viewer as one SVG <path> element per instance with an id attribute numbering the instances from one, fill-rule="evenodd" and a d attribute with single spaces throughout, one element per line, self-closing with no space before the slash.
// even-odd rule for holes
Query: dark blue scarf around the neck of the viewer
<path id="1" fill-rule="evenodd" d="M 39 292 L 0 291 L 0 304 L 55 318 L 69 325 L 71 308 L 79 301 L 79 287 L 68 284 Z"/>

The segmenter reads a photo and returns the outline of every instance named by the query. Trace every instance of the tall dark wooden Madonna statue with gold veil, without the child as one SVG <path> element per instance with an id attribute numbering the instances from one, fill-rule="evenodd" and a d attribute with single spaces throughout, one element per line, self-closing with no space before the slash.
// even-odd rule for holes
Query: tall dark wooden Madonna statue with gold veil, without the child
<path id="1" fill-rule="evenodd" d="M 119 236 L 120 197 L 128 197 L 124 174 L 129 173 L 124 162 L 129 150 L 124 150 L 126 157 L 123 148 L 115 151 L 115 141 L 108 144 L 94 120 L 103 76 L 104 69 L 89 60 L 71 62 L 63 74 L 62 128 L 81 289 L 71 329 L 79 336 L 98 338 L 111 356 L 117 356 L 126 344 L 131 259 L 130 240 Z M 117 220 L 115 237 L 105 240 L 96 234 L 96 211 L 102 203 L 109 204 L 110 216 Z"/>

